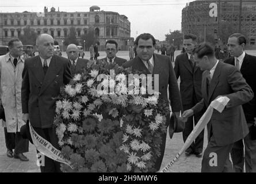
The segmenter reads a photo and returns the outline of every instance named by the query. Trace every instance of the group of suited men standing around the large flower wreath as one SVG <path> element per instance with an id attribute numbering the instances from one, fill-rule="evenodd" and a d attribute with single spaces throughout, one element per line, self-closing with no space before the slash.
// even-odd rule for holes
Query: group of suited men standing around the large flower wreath
<path id="1" fill-rule="evenodd" d="M 116 56 L 118 45 L 114 40 L 106 41 L 106 57 L 100 60 L 97 59 L 97 45 L 90 46 L 90 59 L 87 60 L 78 57 L 77 45 L 70 44 L 66 59 L 54 55 L 54 39 L 44 33 L 36 40 L 39 55 L 24 60 L 21 41 L 11 40 L 10 52 L 0 56 L 0 112 L 6 155 L 22 161 L 29 160 L 24 155 L 28 152 L 29 135 L 28 131 L 23 131 L 28 128 L 28 121 L 41 137 L 59 148 L 53 121 L 54 97 L 59 95 L 60 87 L 91 64 L 115 63 L 131 67 L 132 71 L 159 75 L 159 98 L 170 101 L 178 122 L 185 122 L 184 142 L 211 101 L 220 96 L 228 97 L 230 101 L 222 113 L 213 110 L 207 125 L 208 145 L 204 154 L 204 131 L 185 154 L 202 157 L 202 172 L 243 172 L 244 163 L 246 172 L 256 172 L 256 57 L 244 52 L 246 39 L 243 34 L 236 33 L 229 37 L 227 47 L 231 57 L 224 62 L 216 58 L 210 44 L 198 44 L 195 35 L 186 34 L 185 52 L 176 57 L 174 68 L 171 63 L 174 61 L 173 45 L 161 49 L 162 54 L 159 55 L 154 52 L 155 44 L 154 36 L 140 34 L 135 40 L 135 47 L 129 48 L 129 61 Z M 181 81 L 179 86 L 178 78 Z M 179 116 L 180 112 L 182 116 Z M 166 127 L 169 124 L 170 114 L 167 114 Z M 161 155 L 152 171 L 160 170 L 166 131 L 162 133 L 162 140 Z M 212 152 L 217 154 L 214 166 L 209 162 Z M 46 157 L 45 165 L 40 169 L 41 172 L 60 172 L 60 163 Z"/>

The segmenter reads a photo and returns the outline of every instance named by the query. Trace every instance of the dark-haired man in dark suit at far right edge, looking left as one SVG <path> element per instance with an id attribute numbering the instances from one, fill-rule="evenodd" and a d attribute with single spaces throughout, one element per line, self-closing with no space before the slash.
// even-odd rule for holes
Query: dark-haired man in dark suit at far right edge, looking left
<path id="1" fill-rule="evenodd" d="M 256 172 L 256 57 L 244 52 L 246 38 L 243 34 L 232 34 L 228 39 L 228 50 L 232 57 L 226 59 L 224 63 L 232 64 L 240 70 L 243 78 L 253 89 L 254 98 L 243 105 L 244 115 L 249 127 L 249 134 L 237 141 L 231 151 L 232 162 L 235 171 L 243 172 L 244 155 L 246 173 Z M 243 145 L 244 144 L 244 145 Z M 244 154 L 245 151 L 245 154 Z"/>

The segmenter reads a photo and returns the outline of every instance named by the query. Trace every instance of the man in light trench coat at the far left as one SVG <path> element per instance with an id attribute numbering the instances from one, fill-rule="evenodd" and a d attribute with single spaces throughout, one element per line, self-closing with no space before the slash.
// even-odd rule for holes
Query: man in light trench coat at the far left
<path id="1" fill-rule="evenodd" d="M 22 55 L 22 43 L 18 39 L 9 41 L 10 52 L 0 56 L 0 105 L 5 111 L 5 141 L 10 158 L 14 157 L 22 161 L 29 159 L 23 155 L 28 152 L 28 139 L 23 139 L 20 128 L 25 122 L 22 120 L 21 109 L 21 83 L 24 59 Z M 14 152 L 13 152 L 14 149 Z"/>

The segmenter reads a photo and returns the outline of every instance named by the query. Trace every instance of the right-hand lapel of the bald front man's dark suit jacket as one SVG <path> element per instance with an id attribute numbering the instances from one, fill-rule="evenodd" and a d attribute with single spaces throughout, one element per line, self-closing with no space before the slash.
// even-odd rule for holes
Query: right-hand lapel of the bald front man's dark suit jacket
<path id="1" fill-rule="evenodd" d="M 47 87 L 51 84 L 51 82 L 56 78 L 56 74 L 58 74 L 59 70 L 60 70 L 60 64 L 57 63 L 55 56 L 52 56 L 48 70 L 44 76 L 44 82 L 41 87 L 40 94 L 43 93 L 44 90 L 47 89 Z"/>

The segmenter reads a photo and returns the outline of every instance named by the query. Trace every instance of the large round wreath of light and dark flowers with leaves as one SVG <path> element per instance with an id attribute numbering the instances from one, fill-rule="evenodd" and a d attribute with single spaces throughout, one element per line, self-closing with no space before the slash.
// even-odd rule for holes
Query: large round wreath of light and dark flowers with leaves
<path id="1" fill-rule="evenodd" d="M 97 81 L 100 74 L 108 78 Z M 138 75 L 130 82 L 139 81 L 140 88 L 127 93 L 124 81 L 129 74 L 130 68 L 93 64 L 63 87 L 54 124 L 64 158 L 74 167 L 61 164 L 63 172 L 155 171 L 169 105 L 160 101 L 159 93 L 145 94 Z M 109 94 L 108 86 L 114 86 L 115 93 Z"/>

